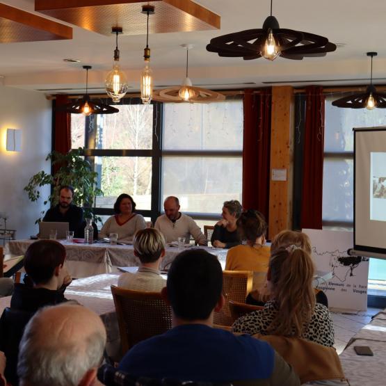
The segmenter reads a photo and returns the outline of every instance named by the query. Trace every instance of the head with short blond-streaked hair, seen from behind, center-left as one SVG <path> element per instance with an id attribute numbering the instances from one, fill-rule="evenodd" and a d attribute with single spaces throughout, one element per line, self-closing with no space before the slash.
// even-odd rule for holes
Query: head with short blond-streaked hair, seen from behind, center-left
<path id="1" fill-rule="evenodd" d="M 143 264 L 156 262 L 164 249 L 165 238 L 159 230 L 146 228 L 134 235 L 134 250 Z"/>

